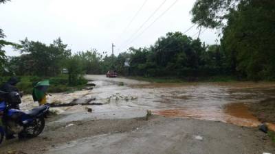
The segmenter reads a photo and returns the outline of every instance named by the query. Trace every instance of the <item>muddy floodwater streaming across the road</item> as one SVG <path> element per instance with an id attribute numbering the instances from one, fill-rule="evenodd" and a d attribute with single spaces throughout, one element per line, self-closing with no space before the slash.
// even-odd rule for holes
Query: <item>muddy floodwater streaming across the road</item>
<path id="1" fill-rule="evenodd" d="M 91 106 L 93 113 L 109 113 L 110 117 L 118 113 L 127 113 L 123 114 L 126 116 L 124 118 L 127 118 L 132 117 L 131 114 L 134 115 L 135 111 L 151 110 L 153 114 L 162 116 L 191 117 L 256 127 L 260 122 L 248 110 L 248 104 L 275 94 L 275 84 L 272 83 L 154 84 L 123 78 L 110 79 L 104 75 L 86 75 L 86 78 L 96 84 L 94 90 L 54 94 L 50 100 L 69 103 L 77 97 L 94 97 L 95 103 L 104 105 Z M 124 86 L 119 86 L 122 85 L 121 82 Z M 28 101 L 27 97 L 25 101 Z M 85 112 L 82 106 L 55 110 L 61 113 Z"/>

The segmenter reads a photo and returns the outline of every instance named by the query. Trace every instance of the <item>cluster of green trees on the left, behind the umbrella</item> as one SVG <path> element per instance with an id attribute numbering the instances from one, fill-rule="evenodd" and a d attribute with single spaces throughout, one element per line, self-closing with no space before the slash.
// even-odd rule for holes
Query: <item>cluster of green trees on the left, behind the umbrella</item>
<path id="1" fill-rule="evenodd" d="M 87 81 L 83 78 L 84 70 L 79 55 L 72 55 L 63 44 L 61 38 L 47 45 L 39 41 L 21 40 L 21 51 L 18 57 L 9 57 L 6 63 L 11 73 L 23 76 L 19 88 L 30 91 L 34 82 L 50 79 L 50 92 L 69 90 L 70 86 L 83 86 Z M 65 77 L 59 77 L 66 70 Z M 6 75 L 12 75 L 8 73 Z M 2 73 L 2 75 L 5 75 Z M 28 78 L 32 75 L 33 77 Z M 25 79 L 27 77 L 27 79 Z"/>

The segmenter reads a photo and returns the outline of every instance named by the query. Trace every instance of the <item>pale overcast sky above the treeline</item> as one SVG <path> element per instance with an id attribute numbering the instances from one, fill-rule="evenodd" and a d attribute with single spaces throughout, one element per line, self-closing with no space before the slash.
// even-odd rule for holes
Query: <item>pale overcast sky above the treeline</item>
<path id="1" fill-rule="evenodd" d="M 190 10 L 195 0 L 178 0 L 157 21 L 156 18 L 175 0 L 147 0 L 145 4 L 144 1 L 12 0 L 0 5 L 0 27 L 7 36 L 6 40 L 12 42 L 28 37 L 29 40 L 49 44 L 61 37 L 73 52 L 95 48 L 109 54 L 113 42 L 115 55 L 118 55 L 129 47 L 148 47 L 168 31 L 184 32 L 192 26 Z M 162 3 L 162 7 L 149 18 Z M 129 25 L 143 4 L 144 7 Z M 148 18 L 148 22 L 142 26 Z M 193 36 L 197 31 L 195 26 L 186 34 Z M 214 30 L 202 29 L 202 32 L 201 40 L 213 44 L 217 38 Z M 5 49 L 7 55 L 19 55 L 18 51 L 12 51 L 10 47 Z"/>

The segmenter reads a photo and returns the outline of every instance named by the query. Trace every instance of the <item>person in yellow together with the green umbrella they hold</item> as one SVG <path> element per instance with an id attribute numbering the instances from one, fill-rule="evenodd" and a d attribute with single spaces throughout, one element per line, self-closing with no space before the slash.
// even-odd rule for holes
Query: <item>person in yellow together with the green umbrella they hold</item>
<path id="1" fill-rule="evenodd" d="M 50 82 L 49 80 L 40 81 L 34 86 L 34 90 L 32 91 L 32 98 L 34 101 L 38 101 L 39 105 L 44 105 L 47 103 L 46 95 L 47 88 L 49 88 Z"/>

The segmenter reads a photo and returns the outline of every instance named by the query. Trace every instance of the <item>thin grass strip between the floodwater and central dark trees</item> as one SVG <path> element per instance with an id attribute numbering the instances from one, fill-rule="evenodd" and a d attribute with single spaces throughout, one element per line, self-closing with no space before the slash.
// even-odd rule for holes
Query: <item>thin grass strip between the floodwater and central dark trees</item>
<path id="1" fill-rule="evenodd" d="M 214 77 L 140 77 L 140 76 L 129 76 L 129 79 L 136 79 L 140 81 L 149 81 L 156 83 L 184 83 L 190 81 L 199 82 L 230 82 L 239 81 L 233 76 L 214 76 Z"/>

